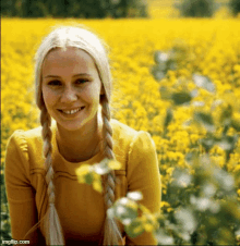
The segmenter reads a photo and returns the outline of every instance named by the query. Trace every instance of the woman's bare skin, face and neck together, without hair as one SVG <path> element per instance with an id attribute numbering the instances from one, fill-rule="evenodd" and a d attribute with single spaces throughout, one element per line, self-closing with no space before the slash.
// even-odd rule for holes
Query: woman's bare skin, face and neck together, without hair
<path id="1" fill-rule="evenodd" d="M 60 152 L 70 161 L 89 159 L 99 151 L 95 143 L 100 135 L 94 130 L 104 89 L 94 60 L 84 50 L 58 48 L 46 56 L 41 76 L 44 101 L 58 125 Z"/>

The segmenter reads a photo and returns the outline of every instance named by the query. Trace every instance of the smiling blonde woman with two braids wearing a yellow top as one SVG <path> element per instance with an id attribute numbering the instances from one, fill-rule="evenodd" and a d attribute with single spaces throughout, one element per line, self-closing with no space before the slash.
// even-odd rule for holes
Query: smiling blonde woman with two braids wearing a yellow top
<path id="1" fill-rule="evenodd" d="M 57 28 L 41 42 L 35 72 L 41 127 L 14 132 L 7 149 L 13 238 L 31 245 L 156 245 L 151 233 L 131 238 L 106 216 L 131 190 L 142 192 L 141 202 L 157 212 L 160 177 L 149 134 L 110 120 L 111 77 L 100 39 L 82 27 Z M 103 179 L 100 194 L 80 184 L 75 171 L 104 158 L 122 169 Z"/>

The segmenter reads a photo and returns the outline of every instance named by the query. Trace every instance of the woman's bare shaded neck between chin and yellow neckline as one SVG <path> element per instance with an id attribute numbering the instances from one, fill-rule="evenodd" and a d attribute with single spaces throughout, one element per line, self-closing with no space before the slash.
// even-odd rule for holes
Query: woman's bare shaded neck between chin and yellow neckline
<path id="1" fill-rule="evenodd" d="M 86 161 L 100 150 L 101 123 L 96 119 L 79 131 L 67 131 L 57 124 L 56 137 L 59 152 L 65 160 Z"/>

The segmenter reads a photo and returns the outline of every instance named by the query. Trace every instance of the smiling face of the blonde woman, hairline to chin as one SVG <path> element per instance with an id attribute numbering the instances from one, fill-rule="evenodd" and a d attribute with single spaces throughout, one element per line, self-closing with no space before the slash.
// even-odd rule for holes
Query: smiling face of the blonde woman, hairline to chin
<path id="1" fill-rule="evenodd" d="M 46 108 L 58 127 L 76 131 L 96 120 L 103 85 L 87 52 L 72 47 L 50 51 L 41 79 Z"/>

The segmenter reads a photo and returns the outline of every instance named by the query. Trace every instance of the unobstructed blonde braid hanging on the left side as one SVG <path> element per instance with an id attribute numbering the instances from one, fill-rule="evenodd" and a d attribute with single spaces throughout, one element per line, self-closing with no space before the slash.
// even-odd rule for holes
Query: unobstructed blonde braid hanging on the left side
<path id="1" fill-rule="evenodd" d="M 40 124 L 43 126 L 43 139 L 44 139 L 44 156 L 46 168 L 46 183 L 48 186 L 49 207 L 44 218 L 45 238 L 47 245 L 64 245 L 64 238 L 62 227 L 60 224 L 59 216 L 55 207 L 55 185 L 53 185 L 53 169 L 51 161 L 51 118 L 47 112 L 46 107 L 41 107 L 40 111 Z"/>

